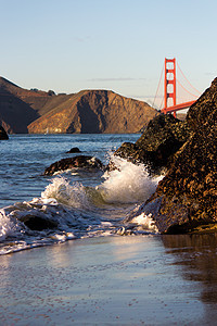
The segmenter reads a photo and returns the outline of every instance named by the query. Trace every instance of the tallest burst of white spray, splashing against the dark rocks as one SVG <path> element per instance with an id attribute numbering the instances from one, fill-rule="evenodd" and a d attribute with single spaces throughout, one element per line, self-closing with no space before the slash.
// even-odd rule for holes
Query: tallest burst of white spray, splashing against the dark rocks
<path id="1" fill-rule="evenodd" d="M 151 178 L 143 164 L 133 164 L 113 156 L 116 170 L 106 172 L 105 179 L 97 189 L 108 203 L 136 203 L 145 201 L 156 189 L 158 178 Z"/>

